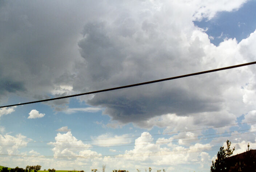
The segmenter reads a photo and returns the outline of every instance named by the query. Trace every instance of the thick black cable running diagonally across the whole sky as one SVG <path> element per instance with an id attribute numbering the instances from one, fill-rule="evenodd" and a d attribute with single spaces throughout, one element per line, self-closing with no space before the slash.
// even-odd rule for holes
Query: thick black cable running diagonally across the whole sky
<path id="1" fill-rule="evenodd" d="M 163 81 L 168 81 L 168 80 L 173 80 L 173 79 L 179 79 L 179 78 L 188 77 L 188 76 L 207 74 L 207 73 L 216 72 L 216 71 L 222 71 L 222 70 L 227 70 L 227 69 L 232 69 L 232 68 L 237 68 L 237 67 L 242 67 L 242 66 L 248 66 L 248 65 L 251 65 L 251 64 L 256 64 L 256 61 L 255 62 L 250 62 L 250 63 L 238 64 L 238 65 L 235 65 L 235 66 L 228 66 L 228 67 L 223 67 L 223 68 L 217 68 L 217 69 L 208 70 L 208 71 L 196 72 L 196 73 L 187 74 L 187 75 L 168 77 L 168 78 L 165 78 L 165 79 L 147 81 L 147 82 L 137 83 L 137 84 L 132 84 L 132 85 L 124 85 L 124 86 L 121 86 L 121 87 L 102 89 L 102 90 L 92 91 L 92 92 L 87 92 L 87 93 L 80 93 L 80 94 L 76 94 L 76 95 L 69 95 L 69 96 L 63 96 L 63 97 L 55 97 L 55 98 L 49 98 L 49 99 L 38 100 L 38 101 L 31 101 L 31 102 L 25 102 L 25 103 L 20 103 L 20 104 L 0 106 L 0 108 L 6 108 L 6 107 L 11 107 L 11 106 L 19 106 L 19 105 L 26 105 L 26 104 L 32 104 L 32 103 L 39 103 L 39 102 L 44 102 L 44 101 L 52 101 L 52 100 L 58 100 L 58 99 L 63 99 L 63 98 L 69 98 L 69 97 L 77 97 L 77 96 L 83 96 L 83 95 L 90 95 L 90 94 L 94 94 L 94 93 L 107 92 L 107 91 L 112 91 L 112 90 L 116 90 L 116 89 L 136 87 L 136 86 L 139 86 L 139 85 L 147 85 L 147 84 L 158 83 L 158 82 L 163 82 Z"/>

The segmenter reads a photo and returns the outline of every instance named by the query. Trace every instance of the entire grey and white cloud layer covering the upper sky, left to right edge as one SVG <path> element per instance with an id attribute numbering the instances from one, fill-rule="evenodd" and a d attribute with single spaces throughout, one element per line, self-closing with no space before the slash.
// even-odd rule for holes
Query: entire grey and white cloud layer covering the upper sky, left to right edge
<path id="1" fill-rule="evenodd" d="M 254 61 L 256 32 L 240 43 L 227 39 L 216 47 L 193 24 L 244 2 L 2 1 L 1 104 L 12 94 L 64 96 Z M 208 125 L 226 124 L 254 110 L 247 96 L 248 89 L 255 90 L 253 70 L 243 67 L 79 98 L 105 108 L 114 121 L 146 128 L 152 127 L 147 120 L 163 114 L 195 116 L 200 123 L 209 120 L 204 113 L 224 113 L 231 120 L 219 118 Z M 68 102 L 47 104 L 67 111 Z"/>

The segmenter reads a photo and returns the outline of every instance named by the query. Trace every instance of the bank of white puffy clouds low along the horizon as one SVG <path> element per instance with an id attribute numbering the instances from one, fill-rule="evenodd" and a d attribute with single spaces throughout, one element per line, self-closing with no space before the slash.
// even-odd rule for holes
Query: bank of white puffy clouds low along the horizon
<path id="1" fill-rule="evenodd" d="M 5 138 L 10 138 L 9 140 L 14 139 L 14 137 L 10 136 Z M 15 138 L 26 140 L 26 138 L 21 135 L 17 135 Z M 243 141 L 236 141 L 235 137 L 227 137 L 227 139 L 232 140 L 231 147 L 236 147 L 234 154 L 246 150 L 248 140 L 245 137 L 241 138 Z M 42 165 L 43 168 L 49 168 L 49 166 L 51 166 L 51 168 L 54 167 L 57 169 L 71 168 L 72 165 L 76 164 L 77 168 L 86 171 L 90 171 L 92 168 L 100 169 L 102 164 L 107 164 L 108 169 L 111 170 L 116 167 L 128 169 L 129 171 L 136 168 L 145 169 L 145 167 L 151 167 L 153 170 L 165 168 L 173 171 L 186 171 L 185 168 L 181 167 L 184 167 L 184 164 L 187 164 L 193 165 L 193 168 L 200 169 L 201 171 L 206 171 L 209 169 L 212 160 L 207 150 L 211 150 L 211 147 L 216 145 L 212 143 L 204 144 L 193 142 L 187 146 L 180 145 L 177 142 L 172 143 L 171 145 L 168 143 L 159 144 L 168 139 L 163 137 L 154 141 L 155 139 L 151 134 L 143 132 L 140 137 L 136 138 L 135 146 L 131 149 L 127 147 L 124 154 L 117 154 L 118 151 L 111 148 L 109 151 L 115 152 L 113 154 L 117 155 L 102 155 L 99 152 L 92 150 L 93 148 L 90 144 L 85 144 L 81 140 L 76 139 L 70 131 L 65 134 L 58 133 L 55 140 L 55 142 L 48 143 L 48 145 L 54 147 L 52 149 L 54 158 L 41 156 L 34 150 L 30 150 L 27 154 L 27 152 L 17 152 L 16 149 L 16 152 L 10 152 L 12 154 L 22 154 L 24 157 L 20 157 L 19 159 L 16 159 L 16 157 L 8 157 L 8 159 L 3 160 L 3 162 L 8 162 L 9 160 L 12 163 L 17 162 L 16 164 L 22 164 L 24 161 L 41 161 L 40 165 Z M 17 141 L 18 140 L 16 140 L 16 142 Z M 25 146 L 27 143 L 22 141 L 21 144 Z M 217 146 L 221 145 L 225 146 L 223 138 L 221 139 L 221 144 L 217 144 Z M 251 144 L 250 148 L 255 148 L 255 146 L 256 144 Z M 216 148 L 216 154 L 218 148 L 219 147 Z M 109 148 L 106 149 L 108 150 Z M 14 150 L 14 148 L 12 148 L 12 150 Z M 3 151 L 3 148 L 1 151 Z M 31 154 L 38 157 L 26 157 Z M 213 157 L 213 159 L 215 158 Z M 137 162 L 136 164 L 134 163 L 135 161 Z"/>

